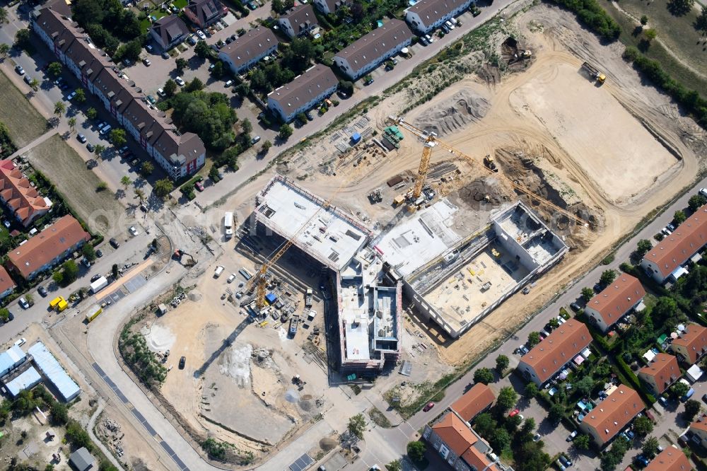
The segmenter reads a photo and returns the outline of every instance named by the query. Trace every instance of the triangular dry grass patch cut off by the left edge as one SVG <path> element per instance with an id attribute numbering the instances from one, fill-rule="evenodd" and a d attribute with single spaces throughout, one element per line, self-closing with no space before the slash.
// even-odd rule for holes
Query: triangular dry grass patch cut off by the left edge
<path id="1" fill-rule="evenodd" d="M 25 95 L 0 72 L 0 121 L 10 130 L 18 149 L 23 148 L 47 131 L 47 120 L 30 105 Z"/>

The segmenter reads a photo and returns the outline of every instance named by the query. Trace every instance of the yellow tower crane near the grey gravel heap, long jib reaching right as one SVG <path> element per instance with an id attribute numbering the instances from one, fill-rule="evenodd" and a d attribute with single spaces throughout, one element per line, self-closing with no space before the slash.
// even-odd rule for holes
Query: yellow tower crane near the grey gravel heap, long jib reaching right
<path id="1" fill-rule="evenodd" d="M 437 138 L 436 134 L 424 132 L 422 129 L 414 127 L 412 124 L 405 122 L 404 118 L 402 118 L 402 117 L 389 116 L 388 120 L 390 122 L 392 122 L 393 124 L 397 125 L 398 127 L 402 127 L 403 129 L 407 129 L 407 131 L 411 132 L 412 134 L 415 134 L 416 136 L 420 137 L 421 139 L 424 139 L 424 141 L 425 141 L 425 148 L 422 151 L 422 160 L 420 161 L 420 168 L 418 171 L 417 179 L 415 180 L 415 188 L 416 189 L 418 187 L 420 188 L 420 190 L 422 189 L 423 183 L 424 183 L 425 178 L 427 176 L 427 169 L 429 168 L 430 154 L 432 152 L 433 146 L 440 146 L 441 148 L 449 151 L 449 153 L 452 153 L 457 157 L 464 158 L 465 160 L 469 161 L 469 163 L 472 163 L 472 165 L 475 165 L 478 163 L 476 161 L 476 159 L 474 159 L 472 156 L 467 156 L 467 154 L 463 153 L 459 149 L 455 149 L 454 147 L 450 146 L 449 144 L 445 144 L 445 142 L 440 141 Z M 589 226 L 588 221 L 585 221 L 584 219 L 581 219 L 580 217 L 575 216 L 570 211 L 567 211 L 566 209 L 562 209 L 561 207 L 557 206 L 553 202 L 550 202 L 547 199 L 540 197 L 539 195 L 528 190 L 523 185 L 520 185 L 520 184 L 514 182 L 513 180 L 511 180 L 510 178 L 506 177 L 506 175 L 502 175 L 500 173 L 495 173 L 493 169 L 486 167 L 486 165 L 479 165 L 479 166 L 481 168 L 483 168 L 484 170 L 486 170 L 487 172 L 491 173 L 492 175 L 500 176 L 501 178 L 506 180 L 515 190 L 518 190 L 519 192 L 525 194 L 527 197 L 530 197 L 532 199 L 537 199 L 539 202 L 544 204 L 546 207 L 549 207 L 551 209 L 554 209 L 555 211 L 560 212 L 561 214 L 564 214 L 572 221 L 575 221 L 575 223 L 580 224 L 580 226 L 585 226 L 585 227 Z M 417 196 L 419 196 L 419 193 L 417 194 Z M 415 199 L 416 199 L 416 197 L 415 197 Z M 413 201 L 413 203 L 414 203 L 414 201 Z"/>

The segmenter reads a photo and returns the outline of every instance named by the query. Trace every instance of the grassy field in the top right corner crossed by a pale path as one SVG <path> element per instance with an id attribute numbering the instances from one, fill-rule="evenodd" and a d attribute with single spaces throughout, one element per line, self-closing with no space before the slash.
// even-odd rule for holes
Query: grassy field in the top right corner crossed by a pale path
<path id="1" fill-rule="evenodd" d="M 643 8 L 643 13 L 641 10 L 638 10 L 639 6 Z M 633 35 L 637 23 L 610 4 L 604 8 L 609 15 L 621 25 L 621 42 L 625 45 L 638 47 L 643 39 L 643 35 Z M 621 8 L 624 8 L 624 10 L 629 11 L 633 16 L 637 16 L 638 18 L 643 14 L 648 16 L 648 25 L 658 31 L 660 40 L 664 41 L 666 45 L 670 45 L 674 54 L 679 54 L 684 62 L 688 62 L 694 69 L 705 71 L 707 74 L 707 52 L 702 52 L 702 45 L 699 46 L 699 54 L 696 51 L 697 33 L 691 25 L 691 21 L 694 21 L 694 16 L 689 14 L 680 18 L 674 18 L 670 15 L 670 12 L 667 11 L 667 8 L 665 8 L 665 3 L 659 2 L 655 2 L 655 5 L 647 6 L 645 2 L 640 0 L 625 0 L 621 1 Z M 670 23 L 668 23 L 667 18 L 665 20 L 665 29 L 660 24 L 660 20 L 663 17 L 659 14 L 661 8 L 662 11 L 665 11 L 665 15 L 663 16 L 670 17 Z M 655 13 L 655 16 L 651 16 L 651 12 Z M 682 35 L 679 33 L 680 30 L 677 25 L 675 25 L 677 21 L 682 25 Z M 675 47 L 672 45 L 675 45 Z M 641 48 L 639 47 L 639 49 Z M 665 50 L 665 47 L 662 47 L 662 45 L 657 42 L 653 42 L 653 44 L 648 47 L 648 50 L 643 52 L 650 59 L 660 62 L 662 68 L 670 74 L 673 79 L 682 83 L 686 88 L 696 90 L 701 95 L 707 96 L 707 80 L 702 79 L 689 69 L 686 69 L 685 66 L 680 64 L 680 62 L 674 59 L 674 57 Z"/>

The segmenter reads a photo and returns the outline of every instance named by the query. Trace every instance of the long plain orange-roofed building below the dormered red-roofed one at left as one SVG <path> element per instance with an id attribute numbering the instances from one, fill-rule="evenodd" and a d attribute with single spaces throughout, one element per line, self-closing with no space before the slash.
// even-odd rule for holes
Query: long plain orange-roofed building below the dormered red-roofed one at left
<path id="1" fill-rule="evenodd" d="M 33 279 L 71 256 L 90 240 L 74 216 L 66 215 L 8 253 L 8 269 Z"/>

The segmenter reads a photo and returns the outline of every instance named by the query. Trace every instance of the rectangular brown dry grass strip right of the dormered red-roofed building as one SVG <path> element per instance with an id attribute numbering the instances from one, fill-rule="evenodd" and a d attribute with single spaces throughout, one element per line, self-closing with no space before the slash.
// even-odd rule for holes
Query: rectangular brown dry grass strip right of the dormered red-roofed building
<path id="1" fill-rule="evenodd" d="M 110 190 L 96 192 L 100 180 L 74 149 L 60 136 L 52 136 L 28 152 L 30 163 L 52 180 L 76 215 L 88 224 L 91 231 L 104 235 L 110 221 L 117 221 L 125 213 Z"/>

